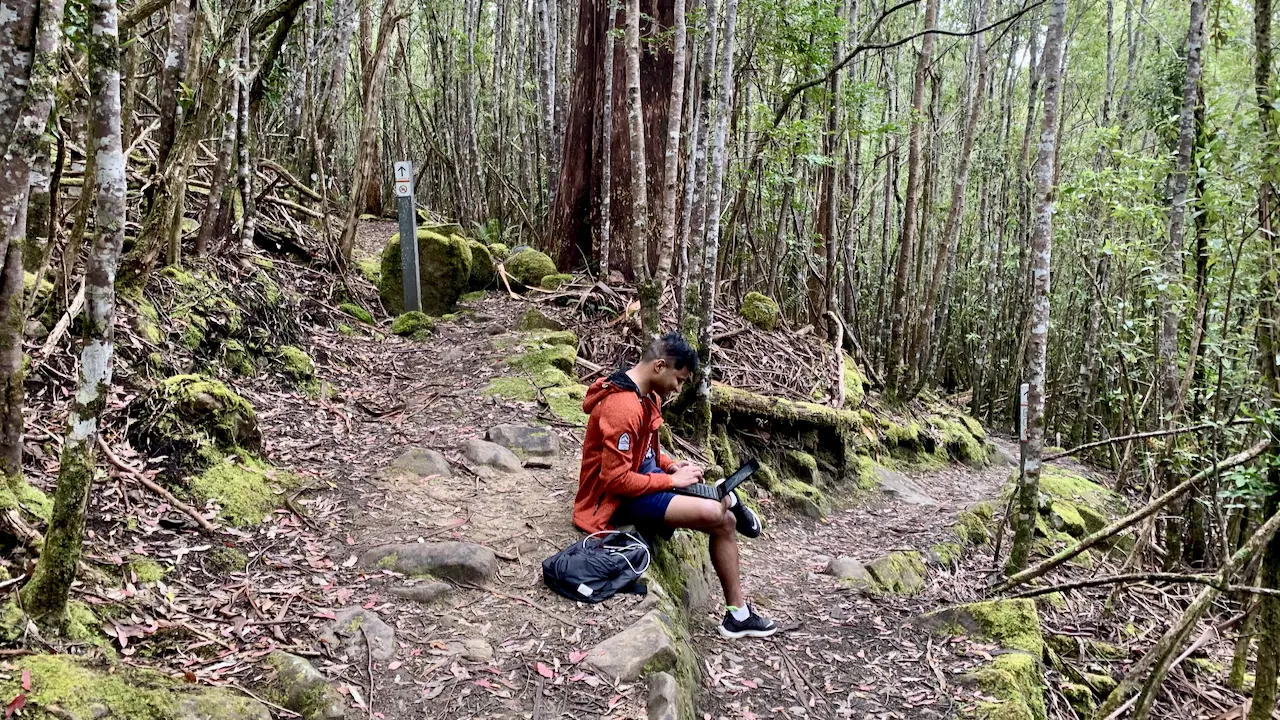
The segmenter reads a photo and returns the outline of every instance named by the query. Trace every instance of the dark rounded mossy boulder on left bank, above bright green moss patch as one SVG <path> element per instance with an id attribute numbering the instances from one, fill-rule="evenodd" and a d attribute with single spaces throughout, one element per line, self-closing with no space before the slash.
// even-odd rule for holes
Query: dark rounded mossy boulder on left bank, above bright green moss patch
<path id="1" fill-rule="evenodd" d="M 140 447 L 202 468 L 236 448 L 257 451 L 262 434 L 247 400 L 205 375 L 174 375 L 138 402 L 131 436 Z"/>

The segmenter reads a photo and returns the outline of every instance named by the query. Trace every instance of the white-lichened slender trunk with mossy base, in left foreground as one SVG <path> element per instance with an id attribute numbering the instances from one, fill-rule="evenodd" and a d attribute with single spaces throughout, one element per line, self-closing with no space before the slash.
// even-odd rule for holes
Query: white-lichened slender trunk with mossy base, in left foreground
<path id="1" fill-rule="evenodd" d="M 60 24 L 60 23 L 59 23 Z M 84 511 L 93 483 L 97 423 L 111 389 L 115 268 L 124 243 L 125 182 L 120 146 L 120 46 L 115 0 L 88 6 L 90 122 L 97 155 L 95 237 L 84 270 L 79 382 L 67 419 L 49 534 L 22 607 L 38 623 L 61 626 L 84 538 Z"/>

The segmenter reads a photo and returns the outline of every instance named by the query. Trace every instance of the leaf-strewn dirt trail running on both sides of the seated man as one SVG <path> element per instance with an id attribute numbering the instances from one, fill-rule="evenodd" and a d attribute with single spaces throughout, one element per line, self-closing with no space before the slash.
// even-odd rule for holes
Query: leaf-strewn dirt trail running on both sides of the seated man
<path id="1" fill-rule="evenodd" d="M 643 684 L 611 687 L 573 662 L 634 623 L 644 600 L 617 596 L 575 606 L 541 584 L 541 560 L 581 537 L 570 523 L 580 430 L 552 419 L 561 456 L 548 469 L 481 478 L 461 456 L 467 438 L 483 438 L 499 423 L 527 424 L 536 413 L 532 404 L 480 392 L 503 372 L 493 340 L 511 332 L 521 302 L 489 293 L 467 310 L 424 342 L 367 333 L 312 337 L 317 374 L 339 395 L 311 418 L 262 418 L 269 455 L 275 446 L 283 451 L 278 459 L 332 488 L 315 502 L 335 509 L 321 530 L 343 588 L 339 600 L 372 610 L 396 629 L 389 661 L 319 646 L 314 664 L 356 685 L 371 712 L 387 719 L 645 717 Z M 387 466 L 415 447 L 443 452 L 449 477 L 388 477 Z M 932 638 L 908 620 L 940 602 L 970 600 L 963 588 L 975 587 L 975 578 L 934 569 L 915 598 L 872 600 L 822 570 L 827 557 L 865 562 L 948 539 L 954 515 L 995 496 L 1007 471 L 996 465 L 914 474 L 936 506 L 874 493 L 822 521 L 765 502 L 768 529 L 744 542 L 742 566 L 748 596 L 782 632 L 728 642 L 714 633 L 710 614 L 695 623 L 699 712 L 713 719 L 954 715 L 965 700 L 952 697 L 960 691 L 946 678 L 979 656 L 969 660 L 966 643 Z M 494 551 L 498 574 L 486 588 L 458 587 L 422 605 L 389 594 L 413 580 L 356 562 L 379 544 L 445 539 Z M 348 717 L 357 716 L 366 711 L 353 702 Z"/>

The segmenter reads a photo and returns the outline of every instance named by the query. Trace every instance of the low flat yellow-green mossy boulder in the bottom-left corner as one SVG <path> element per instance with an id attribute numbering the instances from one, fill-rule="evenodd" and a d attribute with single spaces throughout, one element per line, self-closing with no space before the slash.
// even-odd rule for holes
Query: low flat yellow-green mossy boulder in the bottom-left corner
<path id="1" fill-rule="evenodd" d="M 22 688 L 29 673 L 31 689 Z M 26 696 L 23 716 L 93 720 L 270 720 L 260 702 L 225 688 L 182 683 L 154 670 L 95 662 L 70 655 L 9 661 L 0 694 Z M 58 712 L 50 712 L 56 708 Z"/>

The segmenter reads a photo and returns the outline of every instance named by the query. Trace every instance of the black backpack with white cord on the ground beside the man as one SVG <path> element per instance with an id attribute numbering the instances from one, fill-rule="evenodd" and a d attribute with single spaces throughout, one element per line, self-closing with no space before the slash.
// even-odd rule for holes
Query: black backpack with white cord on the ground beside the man
<path id="1" fill-rule="evenodd" d="M 543 560 L 543 582 L 580 602 L 600 602 L 620 592 L 645 594 L 640 577 L 649 569 L 649 546 L 621 532 L 591 533 Z"/>

